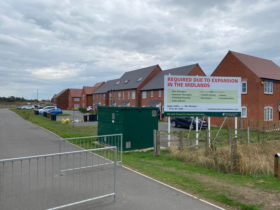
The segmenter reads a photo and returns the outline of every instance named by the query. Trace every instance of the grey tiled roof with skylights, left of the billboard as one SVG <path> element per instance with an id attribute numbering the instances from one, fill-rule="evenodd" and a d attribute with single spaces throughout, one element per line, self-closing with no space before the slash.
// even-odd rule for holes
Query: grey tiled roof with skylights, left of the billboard
<path id="1" fill-rule="evenodd" d="M 98 88 L 94 94 L 105 93 L 112 90 L 127 90 L 127 89 L 136 89 L 141 85 L 141 83 L 150 75 L 150 73 L 158 65 L 146 67 L 143 69 L 136 69 L 133 71 L 125 72 L 121 78 L 107 81 L 104 85 Z M 139 78 L 142 78 L 141 81 L 138 81 Z M 125 81 L 129 80 L 127 83 Z M 120 82 L 116 85 L 117 82 Z"/>

